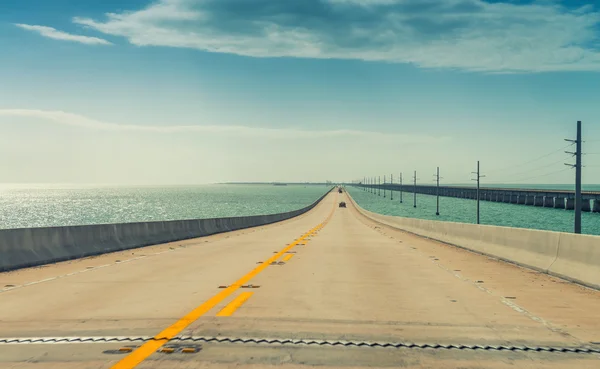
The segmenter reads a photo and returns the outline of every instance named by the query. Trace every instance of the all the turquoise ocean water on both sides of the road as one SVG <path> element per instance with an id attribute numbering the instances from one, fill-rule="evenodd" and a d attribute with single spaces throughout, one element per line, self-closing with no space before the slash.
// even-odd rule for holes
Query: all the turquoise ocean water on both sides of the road
<path id="1" fill-rule="evenodd" d="M 509 185 L 494 185 L 508 187 Z M 523 187 L 523 186 L 521 186 Z M 569 185 L 533 185 L 532 188 L 572 189 Z M 219 184 L 202 186 L 114 187 L 74 185 L 0 185 L 0 229 L 127 223 L 158 220 L 219 218 L 272 214 L 311 204 L 331 186 Z M 403 203 L 394 192 L 387 197 L 347 187 L 365 209 L 403 217 L 475 223 L 476 201 L 436 198 L 405 192 Z M 600 186 L 586 186 L 600 190 Z M 481 223 L 507 227 L 572 232 L 573 211 L 481 201 Z M 583 213 L 582 231 L 600 235 L 600 214 Z"/>

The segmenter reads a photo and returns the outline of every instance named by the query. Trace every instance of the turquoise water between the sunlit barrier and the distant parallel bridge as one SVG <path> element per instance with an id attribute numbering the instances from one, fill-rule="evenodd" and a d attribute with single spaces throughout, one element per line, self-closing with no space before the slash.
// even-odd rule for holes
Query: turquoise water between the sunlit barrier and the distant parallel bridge
<path id="1" fill-rule="evenodd" d="M 556 188 L 557 185 L 550 187 Z M 542 188 L 542 186 L 532 188 Z M 562 188 L 564 187 L 558 185 L 556 189 Z M 589 190 L 600 190 L 600 186 L 589 186 L 588 188 Z M 390 200 L 389 191 L 386 198 L 383 198 L 383 192 L 381 196 L 377 196 L 357 187 L 348 187 L 348 192 L 360 206 L 375 213 L 462 223 L 476 223 L 477 221 L 477 201 L 475 200 L 440 197 L 440 215 L 436 216 L 435 196 L 417 194 L 417 208 L 414 208 L 412 193 L 405 192 L 403 203 L 400 203 L 398 192 L 394 192 L 393 201 Z M 572 232 L 573 217 L 574 212 L 570 210 L 489 201 L 480 202 L 481 224 Z M 584 212 L 581 215 L 581 228 L 582 233 L 600 235 L 600 214 Z"/>

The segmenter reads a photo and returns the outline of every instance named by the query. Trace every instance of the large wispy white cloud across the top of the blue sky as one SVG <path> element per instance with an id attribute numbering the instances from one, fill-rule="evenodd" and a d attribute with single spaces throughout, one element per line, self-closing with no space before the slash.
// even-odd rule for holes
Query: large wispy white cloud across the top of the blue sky
<path id="1" fill-rule="evenodd" d="M 159 0 L 74 18 L 138 46 L 486 72 L 599 71 L 600 13 L 554 2 Z"/>

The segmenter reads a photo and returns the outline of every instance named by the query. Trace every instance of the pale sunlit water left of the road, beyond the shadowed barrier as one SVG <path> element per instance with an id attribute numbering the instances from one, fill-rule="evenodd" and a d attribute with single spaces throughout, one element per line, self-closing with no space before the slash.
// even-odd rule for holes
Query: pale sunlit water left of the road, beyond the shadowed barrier
<path id="1" fill-rule="evenodd" d="M 310 205 L 330 186 L 0 186 L 0 229 L 280 213 Z"/>

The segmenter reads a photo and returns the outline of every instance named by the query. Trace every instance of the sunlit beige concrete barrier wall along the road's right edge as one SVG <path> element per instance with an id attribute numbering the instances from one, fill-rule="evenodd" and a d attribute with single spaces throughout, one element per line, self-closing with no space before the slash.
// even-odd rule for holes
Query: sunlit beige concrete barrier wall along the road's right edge
<path id="1" fill-rule="evenodd" d="M 392 228 L 600 289 L 600 236 L 382 215 L 350 200 L 364 216 Z"/>

